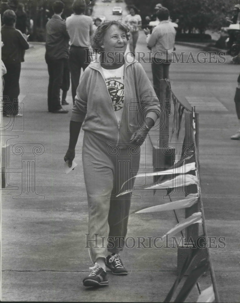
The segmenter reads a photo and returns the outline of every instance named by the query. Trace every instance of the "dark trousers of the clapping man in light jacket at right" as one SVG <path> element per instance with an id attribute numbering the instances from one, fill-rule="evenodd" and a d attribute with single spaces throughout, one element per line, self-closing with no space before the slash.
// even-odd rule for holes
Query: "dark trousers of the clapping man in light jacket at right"
<path id="1" fill-rule="evenodd" d="M 160 79 L 169 79 L 170 62 L 152 58 L 153 88 L 157 96 L 160 95 Z"/>

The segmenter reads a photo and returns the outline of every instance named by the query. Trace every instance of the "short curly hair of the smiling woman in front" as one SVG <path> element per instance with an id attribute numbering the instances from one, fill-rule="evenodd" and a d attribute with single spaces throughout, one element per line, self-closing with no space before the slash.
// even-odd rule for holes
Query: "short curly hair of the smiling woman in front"
<path id="1" fill-rule="evenodd" d="M 103 38 L 106 34 L 108 28 L 112 25 L 117 25 L 118 28 L 120 28 L 123 32 L 125 32 L 127 40 L 130 38 L 130 29 L 127 25 L 119 22 L 119 21 L 104 21 L 102 24 L 100 24 L 95 32 L 95 34 L 91 37 L 91 45 L 92 48 L 100 53 L 103 51 L 101 45 L 103 44 Z"/>

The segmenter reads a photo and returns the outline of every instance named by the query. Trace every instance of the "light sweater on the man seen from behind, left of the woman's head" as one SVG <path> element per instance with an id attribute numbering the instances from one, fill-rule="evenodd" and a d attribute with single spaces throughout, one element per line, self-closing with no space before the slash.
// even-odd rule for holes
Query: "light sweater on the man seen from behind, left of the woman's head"
<path id="1" fill-rule="evenodd" d="M 90 47 L 90 35 L 93 33 L 93 20 L 86 15 L 72 14 L 66 19 L 70 45 Z"/>

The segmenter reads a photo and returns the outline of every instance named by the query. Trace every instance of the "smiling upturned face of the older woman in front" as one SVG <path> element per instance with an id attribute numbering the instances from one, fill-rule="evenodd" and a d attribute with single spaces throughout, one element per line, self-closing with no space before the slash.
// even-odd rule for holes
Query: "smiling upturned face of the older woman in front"
<path id="1" fill-rule="evenodd" d="M 113 54 L 125 53 L 127 49 L 126 33 L 118 28 L 117 25 L 111 25 L 104 35 L 103 44 L 101 47 L 103 48 L 106 55 L 108 55 L 109 52 Z"/>

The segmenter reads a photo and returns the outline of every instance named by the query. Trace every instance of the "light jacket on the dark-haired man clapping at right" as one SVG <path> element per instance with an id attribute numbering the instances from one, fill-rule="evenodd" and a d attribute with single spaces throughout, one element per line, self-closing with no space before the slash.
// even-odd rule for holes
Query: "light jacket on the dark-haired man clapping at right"
<path id="1" fill-rule="evenodd" d="M 175 36 L 176 30 L 172 22 L 160 21 L 146 38 L 147 46 L 152 48 L 152 57 L 172 61 Z"/>

